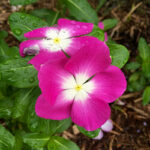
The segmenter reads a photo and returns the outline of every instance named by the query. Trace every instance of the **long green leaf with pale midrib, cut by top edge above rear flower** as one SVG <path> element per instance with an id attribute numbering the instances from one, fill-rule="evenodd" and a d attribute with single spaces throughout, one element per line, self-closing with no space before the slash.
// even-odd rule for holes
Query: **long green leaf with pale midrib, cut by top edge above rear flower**
<path id="1" fill-rule="evenodd" d="M 96 11 L 90 6 L 87 0 L 63 0 L 69 9 L 70 14 L 79 21 L 98 23 Z"/>

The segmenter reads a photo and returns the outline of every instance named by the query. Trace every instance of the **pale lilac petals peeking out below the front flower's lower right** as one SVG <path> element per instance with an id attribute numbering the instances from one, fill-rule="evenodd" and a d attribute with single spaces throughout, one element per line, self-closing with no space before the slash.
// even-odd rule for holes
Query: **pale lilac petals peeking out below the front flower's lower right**
<path id="1" fill-rule="evenodd" d="M 113 129 L 113 123 L 112 120 L 108 119 L 101 127 L 101 130 L 97 137 L 95 137 L 95 140 L 101 140 L 104 136 L 103 132 L 110 132 Z"/>

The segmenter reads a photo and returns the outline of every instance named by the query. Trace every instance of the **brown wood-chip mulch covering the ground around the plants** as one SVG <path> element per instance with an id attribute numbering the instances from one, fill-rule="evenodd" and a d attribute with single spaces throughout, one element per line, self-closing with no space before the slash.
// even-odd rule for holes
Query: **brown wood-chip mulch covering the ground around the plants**
<path id="1" fill-rule="evenodd" d="M 89 2 L 96 8 L 98 0 Z M 37 8 L 56 10 L 56 6 L 56 0 L 39 0 L 35 4 L 25 6 L 25 10 Z M 11 13 L 12 8 L 8 0 L 1 0 L 0 30 L 9 32 L 6 40 L 10 46 L 18 46 L 19 42 L 12 36 L 7 21 Z M 106 18 L 119 20 L 118 25 L 108 31 L 108 35 L 129 49 L 130 60 L 138 53 L 137 43 L 141 36 L 150 43 L 149 0 L 108 0 L 98 14 L 100 21 Z M 76 142 L 81 150 L 150 150 L 150 105 L 142 105 L 142 91 L 126 92 L 119 99 L 124 105 L 111 104 L 114 128 L 111 132 L 105 133 L 102 140 L 90 139 L 75 130 L 74 126 L 65 131 L 63 136 Z"/>

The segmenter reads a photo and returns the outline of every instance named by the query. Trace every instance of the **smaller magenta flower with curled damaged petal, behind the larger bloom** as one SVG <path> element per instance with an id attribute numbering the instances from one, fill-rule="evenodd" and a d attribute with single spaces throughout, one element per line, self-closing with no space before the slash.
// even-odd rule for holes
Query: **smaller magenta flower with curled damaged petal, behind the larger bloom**
<path id="1" fill-rule="evenodd" d="M 81 35 L 90 33 L 92 23 L 59 19 L 55 27 L 43 27 L 24 34 L 28 40 L 20 44 L 20 55 L 36 54 L 30 61 L 39 70 L 40 65 L 49 59 L 74 54 L 83 45 Z"/>

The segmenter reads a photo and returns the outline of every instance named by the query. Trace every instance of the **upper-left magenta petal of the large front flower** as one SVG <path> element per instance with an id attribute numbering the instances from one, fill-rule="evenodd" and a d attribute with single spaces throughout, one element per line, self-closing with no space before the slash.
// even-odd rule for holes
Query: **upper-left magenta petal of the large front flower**
<path id="1" fill-rule="evenodd" d="M 70 73 L 64 70 L 64 65 L 68 59 L 59 59 L 41 66 L 38 79 L 42 94 L 46 100 L 52 104 L 61 93 L 64 78 L 70 76 Z"/>

